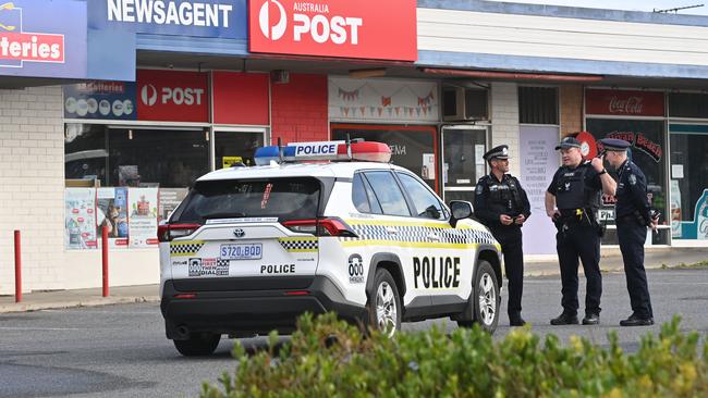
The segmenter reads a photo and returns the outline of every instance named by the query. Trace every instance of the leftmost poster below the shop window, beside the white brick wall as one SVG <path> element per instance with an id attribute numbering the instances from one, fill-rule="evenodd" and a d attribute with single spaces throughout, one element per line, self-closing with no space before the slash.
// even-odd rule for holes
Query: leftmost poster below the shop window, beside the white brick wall
<path id="1" fill-rule="evenodd" d="M 96 188 L 66 188 L 64 209 L 64 247 L 96 249 Z"/>

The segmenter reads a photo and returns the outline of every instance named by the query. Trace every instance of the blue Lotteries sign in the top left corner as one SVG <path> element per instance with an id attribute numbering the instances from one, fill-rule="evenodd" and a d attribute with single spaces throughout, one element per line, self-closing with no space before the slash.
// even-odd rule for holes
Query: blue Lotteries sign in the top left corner
<path id="1" fill-rule="evenodd" d="M 0 4 L 0 76 L 85 77 L 86 3 Z"/>

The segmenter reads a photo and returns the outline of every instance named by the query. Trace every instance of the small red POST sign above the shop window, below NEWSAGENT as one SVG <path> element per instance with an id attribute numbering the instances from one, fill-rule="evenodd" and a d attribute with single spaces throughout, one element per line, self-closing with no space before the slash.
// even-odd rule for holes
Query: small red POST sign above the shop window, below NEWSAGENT
<path id="1" fill-rule="evenodd" d="M 141 121 L 209 122 L 207 74 L 138 70 L 137 119 Z"/>

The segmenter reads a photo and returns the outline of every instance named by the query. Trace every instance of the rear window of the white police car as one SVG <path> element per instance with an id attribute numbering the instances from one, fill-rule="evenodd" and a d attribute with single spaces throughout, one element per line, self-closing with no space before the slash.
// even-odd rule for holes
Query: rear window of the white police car
<path id="1" fill-rule="evenodd" d="M 321 184 L 313 177 L 221 179 L 197 182 L 171 223 L 205 223 L 209 219 L 317 216 Z"/>

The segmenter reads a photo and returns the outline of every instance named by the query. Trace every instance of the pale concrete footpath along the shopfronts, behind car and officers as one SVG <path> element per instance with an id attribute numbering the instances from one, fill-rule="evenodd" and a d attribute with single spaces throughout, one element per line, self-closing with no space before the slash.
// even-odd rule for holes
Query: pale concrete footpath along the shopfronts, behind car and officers
<path id="1" fill-rule="evenodd" d="M 647 269 L 676 268 L 682 264 L 692 265 L 700 262 L 708 264 L 708 247 L 646 249 L 645 266 Z M 605 272 L 622 272 L 620 250 L 603 249 L 600 268 Z M 559 265 L 553 256 L 529 256 L 525 261 L 525 275 L 527 276 L 557 274 L 559 274 Z M 159 301 L 158 285 L 111 287 L 109 293 L 109 297 L 101 297 L 100 288 L 32 291 L 23 293 L 22 302 L 15 302 L 14 296 L 0 296 L 0 313 Z"/>

